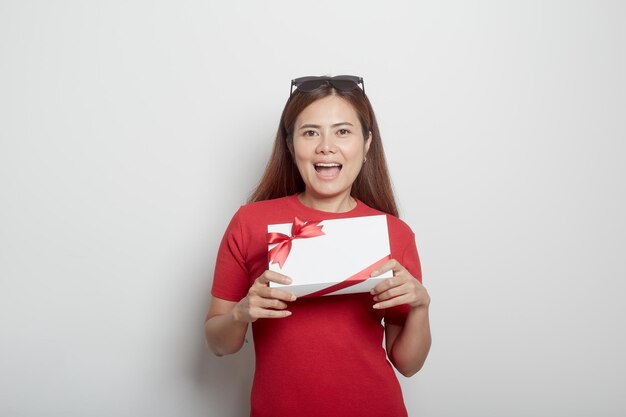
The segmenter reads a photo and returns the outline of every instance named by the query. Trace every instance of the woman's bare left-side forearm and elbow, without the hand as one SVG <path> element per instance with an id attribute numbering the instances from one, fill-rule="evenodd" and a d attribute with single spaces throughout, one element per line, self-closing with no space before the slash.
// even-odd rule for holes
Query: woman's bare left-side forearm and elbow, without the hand
<path id="1" fill-rule="evenodd" d="M 238 352 L 243 346 L 248 323 L 235 318 L 236 308 L 215 315 L 204 323 L 207 345 L 217 356 Z"/>

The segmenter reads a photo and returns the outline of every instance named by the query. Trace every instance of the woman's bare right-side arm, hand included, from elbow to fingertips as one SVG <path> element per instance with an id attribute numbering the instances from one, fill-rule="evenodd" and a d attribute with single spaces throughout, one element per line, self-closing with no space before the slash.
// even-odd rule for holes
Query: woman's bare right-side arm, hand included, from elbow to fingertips
<path id="1" fill-rule="evenodd" d="M 385 323 L 385 339 L 391 363 L 402 375 L 410 377 L 422 368 L 430 350 L 430 296 L 426 288 L 396 260 L 387 262 L 372 275 L 389 270 L 393 270 L 394 276 L 372 289 L 376 302 L 373 307 L 383 309 L 409 305 L 409 314 L 403 325 Z"/>

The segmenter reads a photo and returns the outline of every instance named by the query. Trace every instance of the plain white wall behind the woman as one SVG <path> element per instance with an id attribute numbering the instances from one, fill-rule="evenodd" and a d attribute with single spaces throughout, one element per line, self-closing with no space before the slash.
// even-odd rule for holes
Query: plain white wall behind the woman
<path id="1" fill-rule="evenodd" d="M 411 416 L 626 413 L 620 1 L 0 1 L 0 414 L 241 416 L 215 253 L 291 78 L 357 74 L 432 296 Z"/>

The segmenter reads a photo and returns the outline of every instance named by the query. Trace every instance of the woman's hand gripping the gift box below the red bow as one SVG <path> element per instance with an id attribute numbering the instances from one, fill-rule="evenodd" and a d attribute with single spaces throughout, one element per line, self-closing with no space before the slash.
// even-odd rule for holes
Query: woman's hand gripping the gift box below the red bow
<path id="1" fill-rule="evenodd" d="M 291 315 L 286 310 L 287 302 L 295 301 L 296 296 L 278 288 L 270 288 L 270 282 L 291 284 L 291 278 L 274 271 L 263 272 L 248 290 L 248 295 L 236 304 L 236 321 L 252 323 L 261 318 L 283 318 Z"/>

